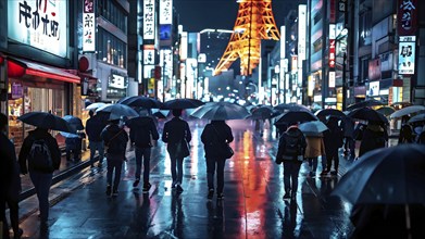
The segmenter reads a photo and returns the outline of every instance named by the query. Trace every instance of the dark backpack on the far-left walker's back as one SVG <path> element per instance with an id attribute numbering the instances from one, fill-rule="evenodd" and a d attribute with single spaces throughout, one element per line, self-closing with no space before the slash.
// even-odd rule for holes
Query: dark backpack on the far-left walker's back
<path id="1" fill-rule="evenodd" d="M 36 139 L 33 142 L 28 154 L 28 164 L 37 172 L 51 173 L 54 171 L 51 153 L 45 139 Z"/>

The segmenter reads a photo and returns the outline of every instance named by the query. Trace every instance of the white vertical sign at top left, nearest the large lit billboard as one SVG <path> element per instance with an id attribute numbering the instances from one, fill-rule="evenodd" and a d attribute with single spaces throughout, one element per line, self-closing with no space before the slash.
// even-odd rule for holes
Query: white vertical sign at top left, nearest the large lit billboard
<path id="1" fill-rule="evenodd" d="M 96 51 L 95 0 L 83 0 L 83 51 Z"/>

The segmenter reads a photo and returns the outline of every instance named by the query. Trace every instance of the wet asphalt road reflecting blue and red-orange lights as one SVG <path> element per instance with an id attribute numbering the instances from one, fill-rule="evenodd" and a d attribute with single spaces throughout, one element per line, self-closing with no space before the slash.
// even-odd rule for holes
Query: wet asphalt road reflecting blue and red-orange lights
<path id="1" fill-rule="evenodd" d="M 107 197 L 105 168 L 86 168 L 51 190 L 49 229 L 39 230 L 37 212 L 21 218 L 24 238 L 346 238 L 352 230 L 351 205 L 329 197 L 350 161 L 340 158 L 338 177 L 309 177 L 304 163 L 297 200 L 283 200 L 283 166 L 274 163 L 277 140 L 267 128 L 253 133 L 246 121 L 228 122 L 235 149 L 225 167 L 224 200 L 207 199 L 201 122 L 190 122 L 191 156 L 184 162 L 185 191 L 171 189 L 165 144 L 152 149 L 152 188 L 133 188 L 135 160 L 129 151 L 118 196 Z M 318 163 L 320 165 L 320 163 Z M 321 172 L 321 166 L 317 168 Z M 25 205 L 25 206 L 23 206 Z M 21 202 L 28 212 L 34 197 Z M 29 212 L 32 212 L 29 210 Z"/>

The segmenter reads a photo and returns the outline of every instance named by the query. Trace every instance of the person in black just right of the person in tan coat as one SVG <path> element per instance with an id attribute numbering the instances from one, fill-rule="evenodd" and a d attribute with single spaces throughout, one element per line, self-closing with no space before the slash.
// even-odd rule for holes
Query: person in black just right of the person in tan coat
<path id="1" fill-rule="evenodd" d="M 326 151 L 326 171 L 323 171 L 321 173 L 322 176 L 326 175 L 330 172 L 330 175 L 337 175 L 338 174 L 338 166 L 339 166 L 339 155 L 338 155 L 338 149 L 342 147 L 343 140 L 343 130 L 338 125 L 338 117 L 330 116 L 327 122 L 326 126 L 328 130 L 323 133 L 324 141 L 325 141 L 325 151 Z M 332 164 L 334 162 L 334 171 L 330 171 Z"/>

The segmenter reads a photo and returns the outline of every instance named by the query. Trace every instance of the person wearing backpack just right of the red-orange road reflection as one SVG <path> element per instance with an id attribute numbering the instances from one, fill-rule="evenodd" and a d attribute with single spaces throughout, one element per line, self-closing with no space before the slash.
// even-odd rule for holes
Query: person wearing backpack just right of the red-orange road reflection
<path id="1" fill-rule="evenodd" d="M 297 125 L 291 125 L 280 136 L 276 163 L 284 163 L 285 199 L 296 199 L 298 174 L 305 154 L 305 137 Z"/>

